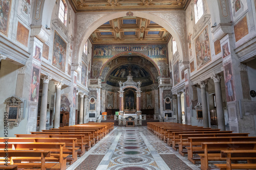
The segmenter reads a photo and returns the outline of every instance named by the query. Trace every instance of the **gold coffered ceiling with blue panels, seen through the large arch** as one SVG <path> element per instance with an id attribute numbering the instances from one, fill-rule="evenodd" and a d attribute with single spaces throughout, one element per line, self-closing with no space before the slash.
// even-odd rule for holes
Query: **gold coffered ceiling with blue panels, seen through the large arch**
<path id="1" fill-rule="evenodd" d="M 93 44 L 167 43 L 171 35 L 157 23 L 139 17 L 121 17 L 106 21 L 90 36 Z"/>

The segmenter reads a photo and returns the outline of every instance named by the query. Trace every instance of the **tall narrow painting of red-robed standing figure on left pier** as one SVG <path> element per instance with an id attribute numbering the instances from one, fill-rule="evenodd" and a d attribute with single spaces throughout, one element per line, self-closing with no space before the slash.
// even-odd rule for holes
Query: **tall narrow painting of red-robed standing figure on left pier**
<path id="1" fill-rule="evenodd" d="M 38 102 L 40 84 L 40 70 L 38 66 L 33 65 L 32 78 L 30 83 L 30 101 Z"/>

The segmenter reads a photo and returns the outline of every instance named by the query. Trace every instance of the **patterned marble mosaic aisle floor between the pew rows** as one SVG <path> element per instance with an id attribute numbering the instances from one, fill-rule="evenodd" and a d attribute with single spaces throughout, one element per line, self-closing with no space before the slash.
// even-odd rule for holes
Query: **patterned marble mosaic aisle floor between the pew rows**
<path id="1" fill-rule="evenodd" d="M 146 127 L 116 127 L 67 170 L 197 170 Z"/>

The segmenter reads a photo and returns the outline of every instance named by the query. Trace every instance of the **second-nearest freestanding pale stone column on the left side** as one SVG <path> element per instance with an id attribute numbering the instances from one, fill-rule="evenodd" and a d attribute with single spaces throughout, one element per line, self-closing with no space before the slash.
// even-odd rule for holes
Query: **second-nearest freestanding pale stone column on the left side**
<path id="1" fill-rule="evenodd" d="M 56 101 L 55 101 L 55 114 L 54 114 L 54 125 L 53 128 L 59 128 L 60 120 L 60 90 L 63 83 L 54 83 L 56 86 Z"/>

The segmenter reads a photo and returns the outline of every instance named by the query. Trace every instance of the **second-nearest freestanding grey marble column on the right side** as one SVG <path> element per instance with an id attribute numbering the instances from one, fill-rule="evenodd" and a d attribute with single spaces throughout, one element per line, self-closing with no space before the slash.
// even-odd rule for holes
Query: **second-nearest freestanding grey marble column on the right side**
<path id="1" fill-rule="evenodd" d="M 201 87 L 201 99 L 202 99 L 202 111 L 203 111 L 203 123 L 204 128 L 209 128 L 209 117 L 208 117 L 208 109 L 207 109 L 207 97 L 206 97 L 206 86 L 207 82 L 199 82 Z"/>

